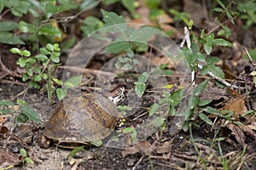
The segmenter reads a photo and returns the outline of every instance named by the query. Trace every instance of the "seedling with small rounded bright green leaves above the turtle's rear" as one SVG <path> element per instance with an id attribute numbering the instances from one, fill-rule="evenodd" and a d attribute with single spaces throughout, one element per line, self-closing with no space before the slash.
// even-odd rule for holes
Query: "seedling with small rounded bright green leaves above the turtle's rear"
<path id="1" fill-rule="evenodd" d="M 58 43 L 48 43 L 45 48 L 40 48 L 40 54 L 31 56 L 29 51 L 19 48 L 11 48 L 10 51 L 13 54 L 19 54 L 20 58 L 17 61 L 17 65 L 25 67 L 26 73 L 22 74 L 22 81 L 26 82 L 30 79 L 29 87 L 40 88 L 38 82 L 47 80 L 48 82 L 48 97 L 49 102 L 52 100 L 52 87 L 51 81 L 55 67 L 59 65 L 61 49 Z M 51 63 L 54 63 L 53 65 Z M 39 65 L 33 65 L 39 63 Z M 42 67 L 43 69 L 42 69 Z"/>

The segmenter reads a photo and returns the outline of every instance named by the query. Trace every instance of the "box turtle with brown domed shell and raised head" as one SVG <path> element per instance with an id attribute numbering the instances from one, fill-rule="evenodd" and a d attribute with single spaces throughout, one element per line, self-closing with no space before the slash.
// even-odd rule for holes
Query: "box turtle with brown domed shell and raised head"
<path id="1" fill-rule="evenodd" d="M 117 103 L 124 98 L 120 87 L 108 97 L 96 93 L 74 95 L 56 106 L 39 138 L 39 146 L 47 149 L 51 144 L 75 148 L 102 141 L 112 133 L 119 122 Z"/>

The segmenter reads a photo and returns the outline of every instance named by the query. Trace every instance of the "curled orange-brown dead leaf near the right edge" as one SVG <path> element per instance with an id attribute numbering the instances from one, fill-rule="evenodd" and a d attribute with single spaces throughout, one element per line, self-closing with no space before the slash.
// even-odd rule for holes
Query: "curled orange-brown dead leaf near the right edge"
<path id="1" fill-rule="evenodd" d="M 227 102 L 223 110 L 225 111 L 233 111 L 234 115 L 232 117 L 235 117 L 236 119 L 239 118 L 239 116 L 243 116 L 244 113 L 247 111 L 247 107 L 245 106 L 244 99 L 238 98 L 238 99 L 233 99 Z"/>

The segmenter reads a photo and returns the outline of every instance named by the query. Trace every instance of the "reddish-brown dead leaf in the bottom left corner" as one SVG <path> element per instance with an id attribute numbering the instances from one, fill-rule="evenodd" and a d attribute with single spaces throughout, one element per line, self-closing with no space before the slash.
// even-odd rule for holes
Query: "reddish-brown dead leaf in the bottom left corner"
<path id="1" fill-rule="evenodd" d="M 0 150 L 0 168 L 15 166 L 20 163 L 19 156 L 13 156 L 5 150 Z"/>

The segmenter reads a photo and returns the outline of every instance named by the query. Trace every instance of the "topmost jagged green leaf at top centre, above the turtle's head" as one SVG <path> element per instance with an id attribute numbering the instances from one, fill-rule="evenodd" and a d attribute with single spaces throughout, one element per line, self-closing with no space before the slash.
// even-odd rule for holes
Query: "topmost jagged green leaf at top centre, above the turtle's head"
<path id="1" fill-rule="evenodd" d="M 119 16 L 118 14 L 115 14 L 113 12 L 108 12 L 103 9 L 101 9 L 103 14 L 103 21 L 105 22 L 105 26 L 112 26 L 116 24 L 123 24 L 125 23 L 125 18 L 123 16 Z"/>

